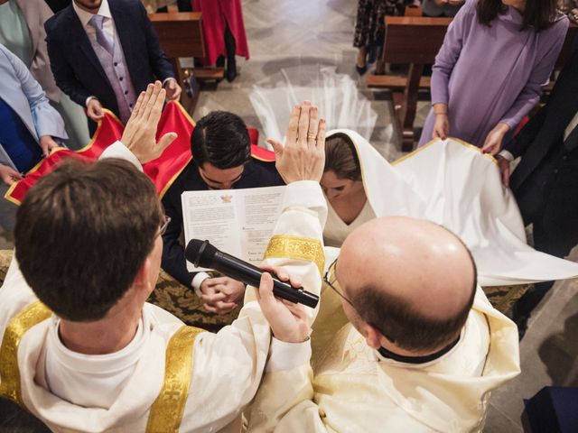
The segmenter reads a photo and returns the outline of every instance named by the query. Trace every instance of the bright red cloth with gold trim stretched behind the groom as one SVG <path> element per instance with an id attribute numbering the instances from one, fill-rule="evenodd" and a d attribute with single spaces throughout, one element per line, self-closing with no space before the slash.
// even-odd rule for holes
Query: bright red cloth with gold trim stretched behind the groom
<path id="1" fill-rule="evenodd" d="M 195 122 L 184 110 L 181 104 L 169 102 L 163 109 L 163 115 L 159 121 L 156 139 L 164 134 L 175 132 L 177 138 L 167 147 L 160 158 L 147 162 L 143 166 L 144 174 L 153 180 L 156 192 L 163 197 L 172 182 L 191 161 L 191 134 Z M 78 152 L 69 149 L 58 148 L 51 156 L 40 161 L 30 170 L 23 180 L 15 182 L 5 194 L 5 198 L 16 205 L 20 205 L 28 189 L 31 189 L 36 180 L 50 173 L 54 168 L 67 158 L 78 158 L 85 161 L 96 161 L 104 150 L 112 143 L 120 140 L 125 126 L 112 112 L 105 110 L 105 117 L 98 124 L 97 132 L 90 143 Z M 252 139 L 258 140 L 258 132 L 249 128 Z M 253 140 L 251 140 L 253 143 Z M 275 153 L 262 147 L 251 144 L 253 158 L 260 161 L 275 161 Z"/>

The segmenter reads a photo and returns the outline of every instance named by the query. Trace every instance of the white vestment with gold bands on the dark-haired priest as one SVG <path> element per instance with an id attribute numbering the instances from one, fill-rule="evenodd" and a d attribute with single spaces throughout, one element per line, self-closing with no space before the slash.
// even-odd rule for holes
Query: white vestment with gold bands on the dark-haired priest
<path id="1" fill-rule="evenodd" d="M 105 156 L 126 155 L 123 147 L 116 143 Z M 266 253 L 267 265 L 284 266 L 314 293 L 321 289 L 321 240 L 326 212 L 318 183 L 288 185 L 284 212 L 275 227 L 277 244 Z M 295 254 L 303 243 L 306 251 Z M 316 255 L 312 256 L 312 252 Z M 42 315 L 37 315 L 38 311 Z M 165 392 L 167 400 L 161 402 L 168 404 L 166 407 L 172 410 L 183 405 L 180 431 L 238 432 L 242 428 L 241 412 L 255 396 L 265 368 L 274 374 L 293 370 L 296 375 L 309 368 L 309 342 L 289 344 L 276 340 L 253 301 L 244 306 L 231 326 L 217 334 L 201 332 L 192 347 L 181 348 L 181 357 L 191 356 L 191 369 L 182 371 L 182 376 L 167 370 L 165 377 L 165 364 L 170 364 L 171 354 L 180 354 L 179 347 L 172 351 L 171 339 L 179 335 L 183 324 L 151 304 L 144 304 L 142 318 L 149 327 L 146 341 L 141 342 L 143 354 L 112 404 L 95 408 L 65 401 L 51 392 L 46 381 L 46 341 L 53 316 L 38 302 L 14 260 L 0 288 L 0 393 L 22 404 L 54 431 L 164 431 L 174 421 L 172 411 L 156 413 L 155 423 L 149 416 L 151 407 Z M 178 361 L 179 356 L 176 358 Z M 171 401 L 184 385 L 189 387 L 185 398 Z M 285 410 L 283 404 L 277 409 Z"/>

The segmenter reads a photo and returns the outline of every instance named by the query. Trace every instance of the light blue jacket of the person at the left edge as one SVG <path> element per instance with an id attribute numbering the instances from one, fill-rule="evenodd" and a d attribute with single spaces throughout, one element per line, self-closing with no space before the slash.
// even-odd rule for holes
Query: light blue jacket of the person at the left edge
<path id="1" fill-rule="evenodd" d="M 11 51 L 0 44 L 0 97 L 22 119 L 36 141 L 42 135 L 57 140 L 69 138 L 61 115 L 51 106 L 40 84 Z M 0 143 L 0 164 L 14 167 Z"/>

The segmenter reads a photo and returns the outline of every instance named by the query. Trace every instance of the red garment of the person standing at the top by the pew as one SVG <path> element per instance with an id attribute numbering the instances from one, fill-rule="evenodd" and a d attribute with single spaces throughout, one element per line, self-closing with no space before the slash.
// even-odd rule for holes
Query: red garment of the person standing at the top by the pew
<path id="1" fill-rule="evenodd" d="M 228 23 L 235 42 L 237 55 L 249 58 L 247 34 L 243 23 L 241 0 L 191 0 L 192 10 L 202 12 L 202 33 L 205 40 L 205 66 L 214 65 L 225 50 L 225 28 Z"/>

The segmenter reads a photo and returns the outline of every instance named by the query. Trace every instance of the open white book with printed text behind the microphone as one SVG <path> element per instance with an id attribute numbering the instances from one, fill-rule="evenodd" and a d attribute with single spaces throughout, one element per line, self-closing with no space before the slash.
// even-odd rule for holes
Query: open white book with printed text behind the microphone
<path id="1" fill-rule="evenodd" d="M 285 187 L 182 193 L 185 244 L 209 240 L 219 250 L 258 265 L 283 206 Z M 187 262 L 190 272 L 200 271 Z"/>

